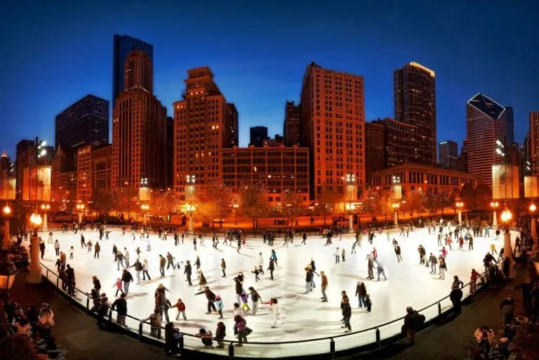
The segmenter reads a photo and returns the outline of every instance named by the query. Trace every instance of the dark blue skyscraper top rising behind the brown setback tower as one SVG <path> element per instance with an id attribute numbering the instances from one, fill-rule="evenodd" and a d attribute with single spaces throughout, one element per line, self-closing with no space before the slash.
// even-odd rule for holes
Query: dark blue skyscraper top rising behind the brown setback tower
<path id="1" fill-rule="evenodd" d="M 140 39 L 128 35 L 114 35 L 112 60 L 112 104 L 116 104 L 116 98 L 124 91 L 124 63 L 127 56 L 133 50 L 140 50 L 154 61 L 154 46 Z"/>

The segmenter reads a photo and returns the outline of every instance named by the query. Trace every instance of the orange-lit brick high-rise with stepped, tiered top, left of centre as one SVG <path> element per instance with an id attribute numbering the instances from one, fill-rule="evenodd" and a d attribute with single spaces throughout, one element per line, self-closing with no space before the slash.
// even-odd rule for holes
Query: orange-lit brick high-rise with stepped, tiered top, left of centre
<path id="1" fill-rule="evenodd" d="M 238 112 L 209 67 L 187 70 L 184 100 L 174 102 L 174 189 L 185 199 L 187 175 L 197 187 L 222 182 L 222 149 L 238 140 Z"/>

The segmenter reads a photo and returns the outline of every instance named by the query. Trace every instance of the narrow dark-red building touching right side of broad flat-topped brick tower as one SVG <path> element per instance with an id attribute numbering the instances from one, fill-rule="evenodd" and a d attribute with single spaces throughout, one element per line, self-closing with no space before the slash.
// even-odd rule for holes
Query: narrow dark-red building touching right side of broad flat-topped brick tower
<path id="1" fill-rule="evenodd" d="M 365 123 L 365 176 L 385 168 L 385 125 L 383 122 Z"/>

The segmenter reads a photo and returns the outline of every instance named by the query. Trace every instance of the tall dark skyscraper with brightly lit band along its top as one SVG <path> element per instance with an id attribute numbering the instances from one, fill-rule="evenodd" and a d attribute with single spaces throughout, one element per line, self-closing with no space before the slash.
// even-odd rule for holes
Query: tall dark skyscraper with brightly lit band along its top
<path id="1" fill-rule="evenodd" d="M 393 73 L 395 119 L 418 127 L 421 164 L 436 164 L 436 87 L 434 71 L 410 62 Z"/>

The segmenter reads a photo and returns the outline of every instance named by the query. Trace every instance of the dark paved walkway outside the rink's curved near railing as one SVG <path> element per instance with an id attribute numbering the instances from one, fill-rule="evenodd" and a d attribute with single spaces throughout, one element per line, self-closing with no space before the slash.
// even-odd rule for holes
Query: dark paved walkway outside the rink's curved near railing
<path id="1" fill-rule="evenodd" d="M 417 343 L 413 346 L 397 342 L 378 354 L 358 355 L 347 359 L 466 359 L 465 348 L 474 342 L 473 332 L 477 327 L 488 325 L 494 330 L 501 327 L 502 315 L 499 306 L 507 293 L 511 293 L 515 299 L 515 313 L 523 312 L 521 291 L 513 287 L 521 284 L 527 272 L 528 270 L 520 271 L 512 283 L 504 288 L 480 293 L 476 302 L 463 307 L 463 314 L 457 319 L 443 325 L 431 326 L 418 333 Z M 40 305 L 42 302 L 51 305 L 56 321 L 53 333 L 69 351 L 69 359 L 170 359 L 157 347 L 142 344 L 126 335 L 99 331 L 93 318 L 71 305 L 56 293 L 52 286 L 46 283 L 29 285 L 25 282 L 25 276 L 26 274 L 20 274 L 15 280 L 11 291 L 13 298 L 25 306 Z M 201 356 L 182 358 L 199 359 Z"/>

